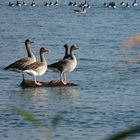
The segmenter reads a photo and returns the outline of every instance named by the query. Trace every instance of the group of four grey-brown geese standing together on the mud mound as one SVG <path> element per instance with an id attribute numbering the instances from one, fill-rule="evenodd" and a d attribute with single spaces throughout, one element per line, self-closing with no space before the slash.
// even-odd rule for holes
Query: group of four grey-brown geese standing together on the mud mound
<path id="1" fill-rule="evenodd" d="M 5 70 L 12 70 L 16 72 L 22 73 L 23 82 L 25 81 L 25 74 L 31 75 L 34 78 L 34 83 L 36 86 L 41 86 L 42 83 L 36 80 L 37 76 L 41 76 L 46 73 L 47 69 L 51 69 L 60 74 L 60 81 L 63 85 L 67 85 L 66 73 L 73 71 L 77 66 L 77 59 L 74 55 L 74 51 L 79 49 L 77 45 L 64 45 L 65 55 L 64 57 L 53 63 L 48 65 L 44 53 L 49 52 L 48 48 L 40 48 L 40 61 L 36 61 L 36 57 L 32 51 L 32 43 L 31 39 L 25 40 L 25 47 L 27 51 L 27 57 L 21 58 L 12 64 L 9 64 L 5 67 Z M 70 50 L 69 50 L 70 49 Z"/>

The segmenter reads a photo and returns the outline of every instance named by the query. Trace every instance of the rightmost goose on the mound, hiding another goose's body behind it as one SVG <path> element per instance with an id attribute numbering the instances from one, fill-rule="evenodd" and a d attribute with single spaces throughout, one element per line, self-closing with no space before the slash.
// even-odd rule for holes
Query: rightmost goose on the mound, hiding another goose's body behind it
<path id="1" fill-rule="evenodd" d="M 71 58 L 63 59 L 56 63 L 48 65 L 48 68 L 60 73 L 60 81 L 64 85 L 67 84 L 66 73 L 73 71 L 77 66 L 77 59 L 73 53 L 74 50 L 77 50 L 77 49 L 79 49 L 77 46 L 72 45 L 70 49 Z"/>

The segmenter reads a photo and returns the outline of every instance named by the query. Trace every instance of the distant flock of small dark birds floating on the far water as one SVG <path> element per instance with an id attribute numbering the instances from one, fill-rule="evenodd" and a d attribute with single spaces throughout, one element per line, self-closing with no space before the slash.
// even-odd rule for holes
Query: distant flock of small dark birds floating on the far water
<path id="1" fill-rule="evenodd" d="M 31 5 L 32 7 L 35 7 L 37 6 L 37 3 L 35 2 L 35 0 L 32 0 L 30 4 L 27 4 L 26 1 L 16 1 L 16 3 L 9 2 L 10 7 L 26 6 L 26 5 Z M 59 5 L 59 1 L 58 0 L 46 1 L 44 3 L 44 6 L 50 6 L 50 5 Z M 78 4 L 75 1 L 70 1 L 68 5 L 76 7 L 77 9 L 74 9 L 74 11 L 77 13 L 86 13 L 87 9 L 91 7 L 91 5 L 87 2 L 87 0 L 84 0 L 84 2 L 80 4 Z M 129 4 L 128 2 L 123 2 L 123 1 L 119 4 L 116 4 L 114 1 L 103 3 L 103 7 L 112 8 L 112 9 L 116 9 L 117 7 L 130 8 L 130 7 L 136 7 L 136 6 L 138 6 L 137 0 L 134 0 L 131 4 Z"/>

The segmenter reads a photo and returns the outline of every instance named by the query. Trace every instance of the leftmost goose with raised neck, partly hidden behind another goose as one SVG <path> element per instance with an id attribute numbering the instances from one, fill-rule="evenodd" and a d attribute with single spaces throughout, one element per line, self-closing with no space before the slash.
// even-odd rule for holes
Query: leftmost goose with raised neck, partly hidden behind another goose
<path id="1" fill-rule="evenodd" d="M 36 62 L 36 57 L 34 56 L 32 50 L 31 50 L 32 43 L 33 43 L 33 41 L 31 39 L 25 40 L 25 46 L 26 46 L 28 56 L 17 60 L 16 62 L 8 65 L 4 69 L 22 72 L 23 68 L 25 68 L 27 65 L 30 65 L 30 64 Z M 23 81 L 24 81 L 24 73 L 23 72 L 22 72 L 22 77 L 23 77 Z"/>

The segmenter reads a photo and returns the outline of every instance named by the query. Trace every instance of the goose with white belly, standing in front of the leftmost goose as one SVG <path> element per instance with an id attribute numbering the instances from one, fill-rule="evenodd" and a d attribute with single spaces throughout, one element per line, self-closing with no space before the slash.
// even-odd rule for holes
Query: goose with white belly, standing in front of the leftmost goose
<path id="1" fill-rule="evenodd" d="M 35 85 L 41 86 L 40 82 L 37 82 L 36 76 L 43 75 L 47 70 L 47 61 L 45 59 L 44 53 L 48 52 L 47 48 L 40 49 L 40 62 L 34 62 L 23 69 L 23 73 L 27 73 L 34 77 Z"/>

